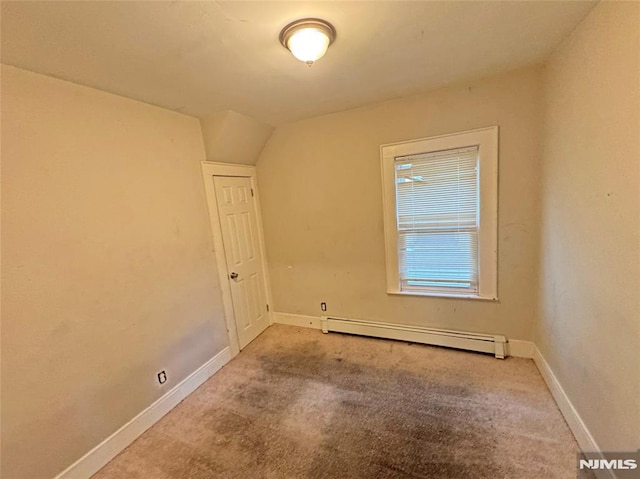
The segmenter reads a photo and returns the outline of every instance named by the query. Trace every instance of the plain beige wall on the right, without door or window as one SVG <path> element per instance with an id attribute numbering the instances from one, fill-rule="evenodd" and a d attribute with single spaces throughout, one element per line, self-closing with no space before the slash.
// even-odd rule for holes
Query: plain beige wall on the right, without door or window
<path id="1" fill-rule="evenodd" d="M 605 450 L 640 448 L 640 3 L 551 57 L 535 341 Z"/>

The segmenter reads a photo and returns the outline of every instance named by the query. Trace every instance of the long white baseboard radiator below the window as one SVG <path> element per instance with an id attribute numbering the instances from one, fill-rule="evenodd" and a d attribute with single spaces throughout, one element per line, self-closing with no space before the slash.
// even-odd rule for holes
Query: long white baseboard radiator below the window
<path id="1" fill-rule="evenodd" d="M 422 328 L 420 326 L 405 326 L 330 316 L 322 316 L 320 324 L 323 333 L 348 333 L 372 336 L 374 338 L 397 339 L 412 343 L 432 344 L 495 354 L 496 358 L 500 359 L 504 359 L 507 350 L 507 340 L 504 336 L 490 334 Z"/>

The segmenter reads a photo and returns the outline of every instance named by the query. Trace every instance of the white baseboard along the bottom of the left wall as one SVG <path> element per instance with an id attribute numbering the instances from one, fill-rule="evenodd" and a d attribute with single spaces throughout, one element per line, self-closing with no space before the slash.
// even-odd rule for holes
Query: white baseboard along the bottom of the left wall
<path id="1" fill-rule="evenodd" d="M 227 346 L 55 479 L 88 479 L 231 360 Z"/>

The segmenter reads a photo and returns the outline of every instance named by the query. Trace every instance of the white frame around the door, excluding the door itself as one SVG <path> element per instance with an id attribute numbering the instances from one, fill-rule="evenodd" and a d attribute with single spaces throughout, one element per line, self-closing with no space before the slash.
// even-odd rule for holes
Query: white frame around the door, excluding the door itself
<path id="1" fill-rule="evenodd" d="M 235 357 L 240 352 L 240 343 L 238 341 L 238 329 L 236 326 L 235 312 L 233 310 L 231 286 L 229 284 L 230 272 L 227 268 L 227 257 L 224 251 L 224 243 L 222 241 L 222 228 L 220 226 L 220 215 L 218 214 L 218 200 L 216 198 L 214 182 L 210 179 L 212 176 L 244 177 L 251 180 L 251 188 L 254 193 L 253 202 L 256 208 L 256 220 L 258 223 L 258 243 L 260 245 L 260 254 L 262 256 L 262 275 L 265 285 L 265 294 L 267 295 L 267 304 L 269 305 L 267 315 L 269 318 L 269 325 L 271 325 L 273 324 L 273 301 L 271 300 L 271 285 L 269 283 L 269 270 L 267 268 L 267 250 L 264 245 L 262 213 L 260 211 L 260 194 L 258 193 L 258 180 L 255 166 L 216 163 L 212 161 L 202 162 L 202 179 L 204 181 L 204 190 L 207 196 L 209 223 L 211 225 L 211 233 L 213 236 L 213 251 L 216 255 L 218 278 L 220 280 L 220 290 L 222 291 L 222 304 L 224 306 L 225 323 L 227 325 L 227 334 L 229 336 L 229 348 L 231 349 L 231 356 Z"/>

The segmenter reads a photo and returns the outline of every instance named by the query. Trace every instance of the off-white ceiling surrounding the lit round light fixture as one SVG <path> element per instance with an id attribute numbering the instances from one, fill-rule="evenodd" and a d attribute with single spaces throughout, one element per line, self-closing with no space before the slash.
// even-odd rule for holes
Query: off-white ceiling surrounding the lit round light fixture
<path id="1" fill-rule="evenodd" d="M 279 123 L 544 61 L 586 1 L 2 2 L 2 62 L 194 116 Z M 278 42 L 336 27 L 311 68 Z"/>

